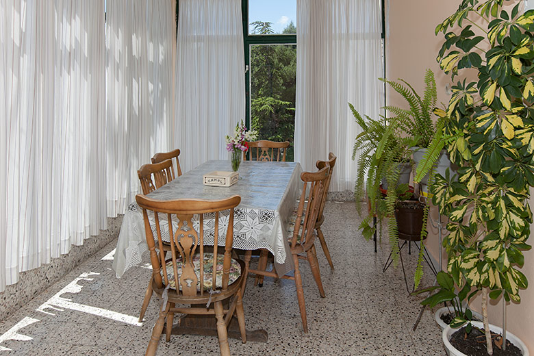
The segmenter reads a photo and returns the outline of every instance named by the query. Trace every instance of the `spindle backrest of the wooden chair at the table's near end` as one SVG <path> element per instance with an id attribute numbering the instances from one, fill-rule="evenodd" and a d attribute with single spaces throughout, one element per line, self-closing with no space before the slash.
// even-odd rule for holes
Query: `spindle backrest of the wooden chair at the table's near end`
<path id="1" fill-rule="evenodd" d="M 157 201 L 138 194 L 136 201 L 142 207 L 143 211 L 144 231 L 147 236 L 147 244 L 149 245 L 150 259 L 157 288 L 163 288 L 169 285 L 178 294 L 184 296 L 196 296 L 198 288 L 200 294 L 203 295 L 207 293 L 205 289 L 209 288 L 209 284 L 207 283 L 213 281 L 211 283 L 212 290 L 216 290 L 216 281 L 222 278 L 222 290 L 227 290 L 229 274 L 231 272 L 233 209 L 239 205 L 241 201 L 240 196 L 231 196 L 231 198 L 218 201 L 199 199 Z M 225 236 L 219 236 L 220 213 L 223 212 L 222 215 L 225 216 L 224 211 L 229 212 L 227 220 L 228 227 Z M 151 216 L 153 215 L 154 220 L 152 225 L 149 220 L 149 212 L 153 212 L 153 214 L 150 214 Z M 208 213 L 212 214 L 204 216 L 204 214 Z M 204 220 L 207 218 L 213 218 L 214 225 L 211 225 L 210 222 L 205 224 Z M 210 268 L 211 272 L 208 269 L 208 272 L 205 273 L 204 239 L 207 225 L 214 227 L 214 246 L 218 246 L 219 238 L 225 238 L 225 248 L 224 253 L 219 253 L 218 249 L 214 248 L 213 267 Z M 172 254 L 170 262 L 166 262 L 165 260 L 163 236 L 167 236 L 170 240 L 170 251 Z M 159 253 L 155 250 L 155 243 L 158 244 Z M 195 256 L 197 257 L 196 259 Z M 195 273 L 196 268 L 194 262 L 199 264 L 200 272 L 198 277 Z M 222 268 L 218 268 L 218 266 Z M 206 267 L 209 268 L 209 266 Z M 173 268 L 173 273 L 170 275 L 174 276 L 174 280 L 169 280 L 168 268 Z M 222 277 L 217 278 L 217 270 L 220 271 L 221 269 L 223 271 Z M 180 275 L 178 270 L 181 270 Z"/>

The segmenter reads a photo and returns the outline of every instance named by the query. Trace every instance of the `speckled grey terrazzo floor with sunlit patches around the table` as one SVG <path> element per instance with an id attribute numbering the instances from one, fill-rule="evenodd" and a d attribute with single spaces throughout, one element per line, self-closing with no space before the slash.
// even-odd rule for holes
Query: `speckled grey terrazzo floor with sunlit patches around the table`
<path id="1" fill-rule="evenodd" d="M 382 272 L 387 238 L 374 253 L 357 230 L 354 203 L 329 202 L 323 231 L 335 270 L 317 243 L 320 298 L 307 262 L 301 264 L 309 333 L 304 334 L 294 282 L 266 278 L 263 288 L 249 278 L 244 296 L 247 329 L 265 329 L 268 342 L 230 339 L 233 355 L 445 355 L 441 332 L 429 309 L 416 331 L 422 296 L 409 296 L 400 266 Z M 122 279 L 112 270 L 111 242 L 84 264 L 0 322 L 3 355 L 144 355 L 157 318 L 153 297 L 137 324 L 151 271 L 131 268 Z M 149 262 L 148 256 L 144 256 Z M 416 253 L 405 257 L 410 279 Z M 428 268 L 422 285 L 431 285 Z M 175 319 L 176 320 L 176 319 Z M 157 355 L 218 355 L 215 337 L 173 335 L 160 340 Z"/>

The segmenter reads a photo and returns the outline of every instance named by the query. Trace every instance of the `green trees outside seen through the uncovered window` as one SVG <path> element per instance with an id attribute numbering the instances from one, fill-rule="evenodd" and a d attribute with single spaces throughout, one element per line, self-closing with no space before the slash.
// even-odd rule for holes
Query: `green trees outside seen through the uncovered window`
<path id="1" fill-rule="evenodd" d="M 271 23 L 256 21 L 254 34 L 272 34 Z M 283 34 L 294 34 L 290 23 Z M 294 160 L 296 45 L 251 46 L 251 128 L 259 140 L 289 141 L 286 161 Z"/>

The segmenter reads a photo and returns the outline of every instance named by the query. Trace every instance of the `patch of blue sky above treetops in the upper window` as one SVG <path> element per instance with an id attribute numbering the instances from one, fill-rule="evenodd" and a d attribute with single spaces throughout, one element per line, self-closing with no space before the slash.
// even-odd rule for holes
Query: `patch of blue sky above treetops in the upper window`
<path id="1" fill-rule="evenodd" d="M 296 0 L 249 0 L 249 23 L 272 23 L 272 30 L 281 34 L 291 22 L 296 25 Z"/>

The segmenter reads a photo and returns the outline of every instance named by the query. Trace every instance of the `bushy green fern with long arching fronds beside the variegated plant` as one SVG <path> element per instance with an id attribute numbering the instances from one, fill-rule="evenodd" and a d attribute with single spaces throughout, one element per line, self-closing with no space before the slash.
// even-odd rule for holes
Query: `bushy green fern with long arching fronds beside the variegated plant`
<path id="1" fill-rule="evenodd" d="M 433 109 L 437 101 L 434 73 L 427 69 L 424 75 L 424 93 L 421 97 L 416 90 L 403 79 L 392 81 L 379 78 L 391 86 L 405 99 L 407 107 L 387 105 L 383 107 L 390 117 L 375 120 L 366 116 L 364 119 L 351 105 L 351 111 L 362 132 L 356 137 L 353 160 L 357 160 L 357 179 L 354 196 L 358 213 L 361 214 L 361 202 L 369 199 L 369 214 L 362 220 L 359 228 L 365 238 L 370 239 L 375 227 L 372 217 L 376 215 L 379 224 L 383 218 L 387 219 L 387 232 L 392 249 L 392 256 L 398 258 L 398 228 L 394 218 L 396 203 L 398 202 L 398 179 L 401 172 L 399 163 L 411 162 L 413 147 L 428 147 L 433 140 L 436 127 L 433 123 Z M 438 125 L 440 121 L 438 121 Z M 359 155 L 358 155 L 359 154 Z M 385 179 L 387 194 L 382 199 L 381 181 Z M 427 236 L 428 207 L 424 208 L 423 229 L 421 240 Z M 421 246 L 419 262 L 416 268 L 416 288 L 422 278 L 422 261 L 424 246 Z"/>

